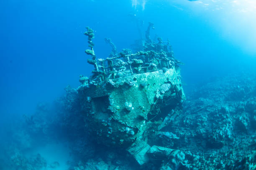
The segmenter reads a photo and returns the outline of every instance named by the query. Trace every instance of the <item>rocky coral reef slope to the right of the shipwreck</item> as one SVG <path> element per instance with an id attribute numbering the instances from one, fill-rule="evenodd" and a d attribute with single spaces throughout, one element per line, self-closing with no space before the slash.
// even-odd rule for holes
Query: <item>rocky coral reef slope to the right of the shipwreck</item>
<path id="1" fill-rule="evenodd" d="M 187 95 L 169 129 L 179 137 L 174 146 L 184 151 L 191 169 L 253 169 L 255 80 L 251 74 L 232 75 Z"/>

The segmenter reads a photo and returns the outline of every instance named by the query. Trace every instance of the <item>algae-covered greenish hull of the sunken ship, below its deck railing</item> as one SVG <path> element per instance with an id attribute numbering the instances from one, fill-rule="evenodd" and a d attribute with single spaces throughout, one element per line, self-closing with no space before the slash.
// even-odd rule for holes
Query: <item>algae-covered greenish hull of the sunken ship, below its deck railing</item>
<path id="1" fill-rule="evenodd" d="M 163 121 L 172 110 L 180 109 L 184 100 L 178 66 L 110 79 L 100 85 L 85 83 L 78 93 L 92 138 L 121 147 L 145 138 L 152 122 Z"/>

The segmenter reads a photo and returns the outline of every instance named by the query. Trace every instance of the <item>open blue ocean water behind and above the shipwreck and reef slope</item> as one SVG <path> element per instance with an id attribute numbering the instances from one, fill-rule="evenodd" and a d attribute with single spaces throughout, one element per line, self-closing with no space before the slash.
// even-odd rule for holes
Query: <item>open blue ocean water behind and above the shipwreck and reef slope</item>
<path id="1" fill-rule="evenodd" d="M 253 0 L 1 1 L 0 147 L 14 147 L 8 143 L 15 141 L 15 128 L 23 115 L 36 112 L 38 103 L 51 105 L 65 95 L 67 85 L 79 86 L 79 75 L 91 75 L 85 27 L 95 31 L 96 56 L 106 58 L 111 48 L 105 37 L 121 51 L 144 36 L 148 22 L 154 23 L 151 38 L 169 39 L 174 56 L 185 63 L 181 74 L 186 93 L 216 77 L 255 72 L 255 8 Z M 69 151 L 65 143 L 56 145 L 20 144 L 18 149 L 26 156 L 40 153 L 47 162 L 59 159 L 63 165 Z M 0 164 L 8 163 L 10 152 L 0 152 Z"/>

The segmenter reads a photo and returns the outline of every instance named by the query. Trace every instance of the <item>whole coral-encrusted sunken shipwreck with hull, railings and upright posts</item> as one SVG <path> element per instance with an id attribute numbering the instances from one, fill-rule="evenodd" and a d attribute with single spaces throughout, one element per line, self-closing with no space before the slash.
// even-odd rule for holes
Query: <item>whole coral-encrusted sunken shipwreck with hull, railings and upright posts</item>
<path id="1" fill-rule="evenodd" d="M 86 53 L 92 56 L 88 62 L 95 70 L 90 78 L 80 77 L 78 93 L 92 139 L 130 151 L 148 148 L 147 140 L 159 134 L 181 110 L 185 99 L 179 68 L 182 63 L 174 59 L 169 42 L 161 38 L 145 42 L 144 51 L 124 49 L 106 59 L 96 59 L 94 34 L 87 30 L 91 50 Z M 138 143 L 145 145 L 138 147 Z"/>

